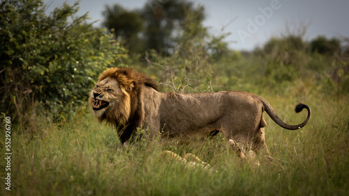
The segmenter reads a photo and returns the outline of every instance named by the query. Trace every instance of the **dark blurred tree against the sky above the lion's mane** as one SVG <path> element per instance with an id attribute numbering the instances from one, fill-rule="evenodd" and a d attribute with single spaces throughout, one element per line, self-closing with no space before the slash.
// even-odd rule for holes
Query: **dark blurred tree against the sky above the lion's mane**
<path id="1" fill-rule="evenodd" d="M 104 26 L 110 31 L 114 29 L 131 53 L 155 49 L 168 56 L 175 44 L 172 37 L 185 28 L 184 23 L 192 12 L 198 15 L 198 23 L 205 17 L 202 6 L 185 0 L 149 0 L 140 10 L 126 10 L 116 4 L 106 6 Z"/>

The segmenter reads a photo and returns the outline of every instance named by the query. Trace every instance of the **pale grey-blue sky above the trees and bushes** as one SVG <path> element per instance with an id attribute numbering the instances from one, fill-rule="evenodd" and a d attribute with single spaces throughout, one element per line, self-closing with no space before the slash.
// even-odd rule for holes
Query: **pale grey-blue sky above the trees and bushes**
<path id="1" fill-rule="evenodd" d="M 170 1 L 170 0 L 163 0 Z M 225 41 L 230 49 L 252 50 L 262 47 L 269 38 L 308 26 L 304 40 L 318 35 L 327 38 L 349 38 L 349 0 L 188 0 L 205 7 L 204 25 L 211 35 L 230 33 Z M 66 0 L 73 5 L 75 0 Z M 60 7 L 64 0 L 44 0 L 47 11 Z M 82 0 L 77 15 L 88 13 L 89 22 L 101 26 L 105 6 L 119 5 L 140 9 L 147 0 Z"/>

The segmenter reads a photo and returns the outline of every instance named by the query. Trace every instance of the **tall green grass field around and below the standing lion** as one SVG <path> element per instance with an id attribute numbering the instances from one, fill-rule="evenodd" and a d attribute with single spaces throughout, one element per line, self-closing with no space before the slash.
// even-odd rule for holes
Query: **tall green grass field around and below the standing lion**
<path id="1" fill-rule="evenodd" d="M 303 129 L 288 131 L 265 114 L 267 145 L 275 159 L 258 157 L 259 167 L 239 160 L 219 135 L 203 145 L 154 140 L 118 149 L 115 131 L 88 109 L 62 124 L 39 120 L 31 135 L 13 126 L 12 187 L 5 190 L 2 183 L 1 195 L 348 195 L 349 96 L 311 88 L 297 83 L 284 95 L 262 95 L 290 124 L 306 117 L 293 112 L 298 101 L 313 115 Z M 193 153 L 218 172 L 166 161 L 160 155 L 165 149 Z M 2 167 L 2 149 L 0 156 Z"/>

